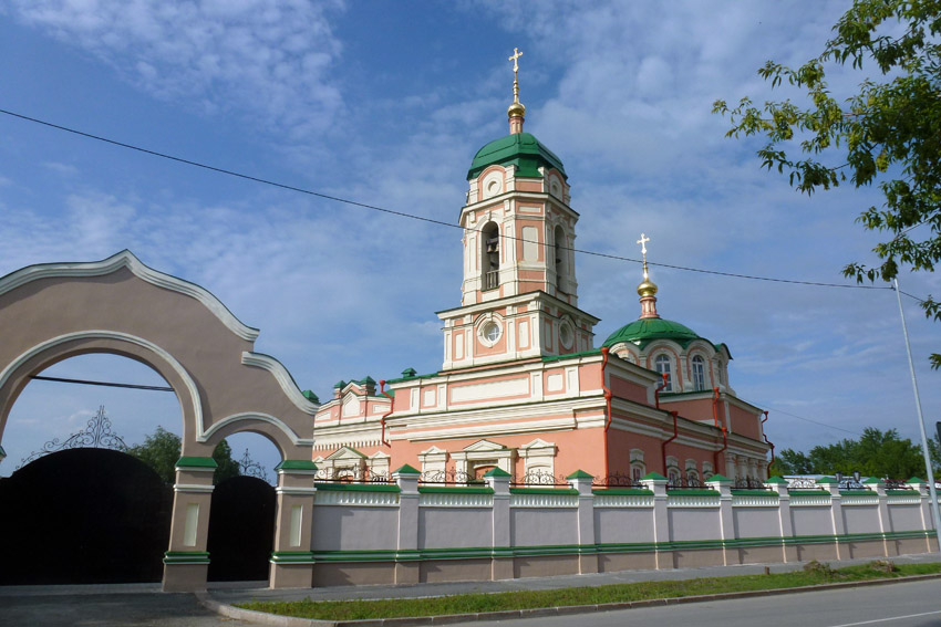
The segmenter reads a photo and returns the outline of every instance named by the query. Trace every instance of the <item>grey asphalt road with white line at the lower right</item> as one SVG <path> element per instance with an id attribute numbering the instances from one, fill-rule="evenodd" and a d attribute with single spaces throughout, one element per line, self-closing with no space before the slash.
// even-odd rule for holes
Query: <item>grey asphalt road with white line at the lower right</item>
<path id="1" fill-rule="evenodd" d="M 475 627 L 941 627 L 941 582 L 911 582 L 745 599 L 466 623 Z"/>

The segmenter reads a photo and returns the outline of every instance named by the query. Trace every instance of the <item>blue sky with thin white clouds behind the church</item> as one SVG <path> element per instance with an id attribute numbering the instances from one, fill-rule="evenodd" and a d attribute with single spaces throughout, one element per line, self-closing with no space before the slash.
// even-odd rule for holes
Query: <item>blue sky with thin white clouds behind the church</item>
<path id="1" fill-rule="evenodd" d="M 507 134 L 514 48 L 526 130 L 563 161 L 578 249 L 749 275 L 849 283 L 877 261 L 855 222 L 878 190 L 808 198 L 725 137 L 715 100 L 771 92 L 765 61 L 815 56 L 848 2 L 7 0 L 0 108 L 280 184 L 456 224 L 477 149 Z M 836 71 L 835 94 L 868 76 Z M 873 75 L 875 76 L 875 75 Z M 261 330 L 256 349 L 302 389 L 441 368 L 434 312 L 459 305 L 455 228 L 159 159 L 0 114 L 0 275 L 130 249 Z M 922 229 L 926 229 L 922 227 Z M 913 236 L 920 233 L 913 231 Z M 596 345 L 640 313 L 638 263 L 578 254 Z M 732 387 L 769 410 L 777 449 L 866 427 L 918 437 L 888 290 L 802 286 L 653 267 L 663 317 L 728 345 Z M 941 293 L 931 273 L 906 292 Z M 929 430 L 941 420 L 941 326 L 903 301 Z M 76 357 L 46 376 L 163 385 Z M 104 405 L 127 443 L 180 431 L 159 391 L 31 383 L 2 435 L 9 476 Z M 230 439 L 269 468 L 273 446 Z M 273 459 L 273 461 L 272 461 Z"/>

